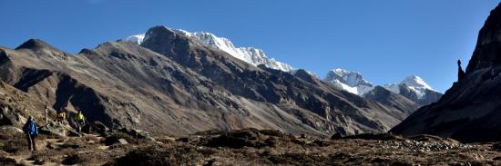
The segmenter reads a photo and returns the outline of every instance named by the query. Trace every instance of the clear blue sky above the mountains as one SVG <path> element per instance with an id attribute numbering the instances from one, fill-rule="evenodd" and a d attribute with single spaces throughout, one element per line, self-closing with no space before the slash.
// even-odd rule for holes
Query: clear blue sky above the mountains
<path id="1" fill-rule="evenodd" d="M 69 53 L 162 24 L 230 38 L 322 77 L 331 68 L 375 84 L 417 74 L 440 92 L 466 64 L 499 0 L 0 1 L 0 45 L 40 38 Z M 465 67 L 465 66 L 464 66 Z"/>

